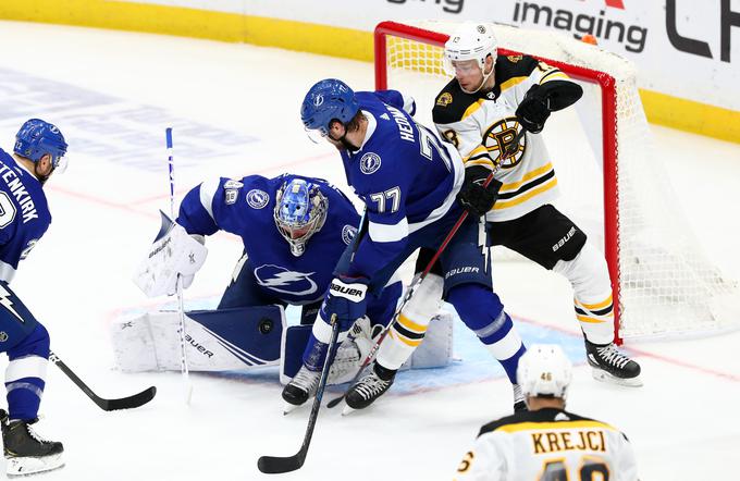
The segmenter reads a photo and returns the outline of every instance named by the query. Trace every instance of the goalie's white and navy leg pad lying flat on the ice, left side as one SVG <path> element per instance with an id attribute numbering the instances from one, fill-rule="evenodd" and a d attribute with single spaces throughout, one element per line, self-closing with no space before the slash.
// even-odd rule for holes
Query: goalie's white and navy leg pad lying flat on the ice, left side
<path id="1" fill-rule="evenodd" d="M 126 372 L 180 370 L 180 316 L 149 312 L 111 325 L 114 357 Z M 185 316 L 185 348 L 192 371 L 231 371 L 280 362 L 285 329 L 281 306 L 258 306 Z"/>

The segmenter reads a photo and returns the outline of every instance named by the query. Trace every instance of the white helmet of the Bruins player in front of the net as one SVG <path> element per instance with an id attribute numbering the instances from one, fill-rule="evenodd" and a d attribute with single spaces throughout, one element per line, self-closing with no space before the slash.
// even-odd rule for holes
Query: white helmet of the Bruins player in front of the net
<path id="1" fill-rule="evenodd" d="M 493 24 L 466 22 L 444 45 L 445 72 L 454 76 L 453 61 L 466 60 L 477 60 L 481 71 L 485 72 L 485 59 L 490 54 L 495 65 L 497 50 L 498 41 L 493 34 Z"/>

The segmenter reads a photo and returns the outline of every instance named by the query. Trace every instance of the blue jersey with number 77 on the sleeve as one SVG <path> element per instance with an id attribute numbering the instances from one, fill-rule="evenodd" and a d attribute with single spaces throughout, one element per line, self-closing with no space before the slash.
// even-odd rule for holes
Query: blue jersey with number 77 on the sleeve
<path id="1" fill-rule="evenodd" d="M 368 234 L 348 274 L 371 279 L 399 254 L 409 234 L 441 219 L 462 185 L 457 150 L 419 125 L 396 90 L 358 91 L 368 120 L 359 150 L 342 150 L 347 183 L 365 201 Z"/>

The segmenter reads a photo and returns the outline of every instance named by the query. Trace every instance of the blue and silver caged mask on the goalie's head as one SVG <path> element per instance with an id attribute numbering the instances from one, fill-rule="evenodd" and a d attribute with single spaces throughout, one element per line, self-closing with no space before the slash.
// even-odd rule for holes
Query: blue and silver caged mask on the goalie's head
<path id="1" fill-rule="evenodd" d="M 286 181 L 278 189 L 275 225 L 294 256 L 301 256 L 308 239 L 321 230 L 328 209 L 329 200 L 321 194 L 319 186 L 303 178 Z"/>

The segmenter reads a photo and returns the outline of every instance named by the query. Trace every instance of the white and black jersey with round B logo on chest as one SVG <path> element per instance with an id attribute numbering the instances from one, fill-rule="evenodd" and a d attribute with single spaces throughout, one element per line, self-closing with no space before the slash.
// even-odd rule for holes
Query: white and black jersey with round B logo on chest
<path id="1" fill-rule="evenodd" d="M 515 112 L 532 85 L 567 79 L 559 70 L 528 55 L 498 55 L 492 90 L 466 94 L 457 79 L 437 95 L 432 116 L 466 165 L 493 169 L 521 128 Z M 495 174 L 503 183 L 489 221 L 520 218 L 557 197 L 557 178 L 542 136 L 528 132 L 517 152 Z"/>

